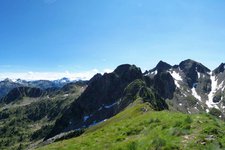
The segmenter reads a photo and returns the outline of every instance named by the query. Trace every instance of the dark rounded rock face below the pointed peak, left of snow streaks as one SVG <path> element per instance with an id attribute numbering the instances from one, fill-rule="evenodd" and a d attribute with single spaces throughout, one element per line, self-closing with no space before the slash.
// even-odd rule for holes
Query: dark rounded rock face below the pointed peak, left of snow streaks
<path id="1" fill-rule="evenodd" d="M 172 99 L 176 85 L 168 72 L 159 73 L 154 77 L 154 89 L 164 99 Z"/>

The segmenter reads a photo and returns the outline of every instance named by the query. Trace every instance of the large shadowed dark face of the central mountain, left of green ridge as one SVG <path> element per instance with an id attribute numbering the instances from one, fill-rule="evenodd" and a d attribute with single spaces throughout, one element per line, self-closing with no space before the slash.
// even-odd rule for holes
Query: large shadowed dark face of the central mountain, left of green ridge
<path id="1" fill-rule="evenodd" d="M 115 109 L 126 86 L 142 78 L 140 68 L 134 65 L 121 65 L 113 73 L 94 76 L 86 91 L 71 105 L 68 111 L 56 122 L 50 135 L 82 128 L 117 114 Z"/>

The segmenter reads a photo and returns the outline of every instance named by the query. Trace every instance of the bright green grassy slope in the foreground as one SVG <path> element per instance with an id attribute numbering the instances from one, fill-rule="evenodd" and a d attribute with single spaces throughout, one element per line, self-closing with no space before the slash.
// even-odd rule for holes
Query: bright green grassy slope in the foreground
<path id="1" fill-rule="evenodd" d="M 40 150 L 219 149 L 225 148 L 225 124 L 207 114 L 153 111 L 137 103 L 113 118 L 90 127 L 77 138 Z"/>

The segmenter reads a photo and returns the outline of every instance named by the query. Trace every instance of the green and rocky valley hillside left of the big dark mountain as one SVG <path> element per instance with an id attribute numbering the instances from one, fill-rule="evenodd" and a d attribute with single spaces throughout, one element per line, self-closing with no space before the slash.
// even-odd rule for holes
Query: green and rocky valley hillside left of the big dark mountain
<path id="1" fill-rule="evenodd" d="M 25 149 L 39 143 L 85 88 L 71 83 L 60 90 L 13 89 L 0 103 L 0 149 Z"/>

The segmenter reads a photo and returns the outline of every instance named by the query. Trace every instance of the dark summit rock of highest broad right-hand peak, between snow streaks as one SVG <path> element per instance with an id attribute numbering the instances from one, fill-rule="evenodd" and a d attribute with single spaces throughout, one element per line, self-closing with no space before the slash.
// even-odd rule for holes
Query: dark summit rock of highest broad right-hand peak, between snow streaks
<path id="1" fill-rule="evenodd" d="M 203 74 L 207 74 L 207 72 L 210 72 L 210 70 L 207 67 L 191 59 L 182 61 L 179 64 L 179 67 L 185 73 L 186 80 L 190 88 L 192 88 L 193 84 L 196 83 L 198 80 L 197 72 L 203 73 Z"/>

